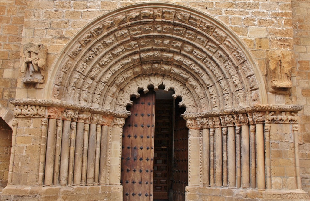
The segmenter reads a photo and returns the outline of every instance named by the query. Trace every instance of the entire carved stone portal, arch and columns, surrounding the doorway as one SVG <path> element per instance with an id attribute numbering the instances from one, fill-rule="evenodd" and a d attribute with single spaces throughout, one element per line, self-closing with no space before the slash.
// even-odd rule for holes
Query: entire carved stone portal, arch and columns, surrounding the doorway
<path id="1" fill-rule="evenodd" d="M 309 200 L 298 190 L 296 112 L 302 108 L 268 105 L 259 68 L 241 40 L 212 17 L 167 3 L 135 4 L 93 20 L 54 64 L 48 100 L 11 101 L 16 118 L 42 118 L 35 184 L 101 185 L 122 200 L 126 106 L 138 91 L 160 86 L 186 108 L 186 200 L 242 199 L 247 192 L 255 199 Z M 287 137 L 278 141 L 290 145 L 274 147 L 282 131 Z M 290 151 L 290 163 L 275 163 L 272 153 L 281 149 Z M 16 184 L 10 167 L 9 183 Z M 277 176 L 279 168 L 290 174 Z"/>

